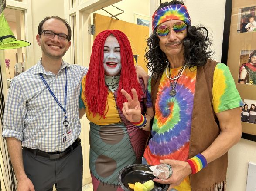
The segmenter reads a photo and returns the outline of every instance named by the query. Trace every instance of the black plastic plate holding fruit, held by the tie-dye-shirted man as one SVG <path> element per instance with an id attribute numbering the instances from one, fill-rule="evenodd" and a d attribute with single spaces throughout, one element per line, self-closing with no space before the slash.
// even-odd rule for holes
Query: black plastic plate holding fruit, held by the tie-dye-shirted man
<path id="1" fill-rule="evenodd" d="M 135 182 L 140 182 L 141 184 L 153 180 L 154 175 L 145 173 L 145 171 L 150 171 L 150 165 L 146 164 L 134 164 L 124 167 L 118 174 L 118 182 L 124 191 L 133 191 L 128 187 L 128 183 L 135 184 Z M 154 182 L 154 188 L 161 187 L 162 191 L 167 191 L 169 184 L 159 184 Z"/>

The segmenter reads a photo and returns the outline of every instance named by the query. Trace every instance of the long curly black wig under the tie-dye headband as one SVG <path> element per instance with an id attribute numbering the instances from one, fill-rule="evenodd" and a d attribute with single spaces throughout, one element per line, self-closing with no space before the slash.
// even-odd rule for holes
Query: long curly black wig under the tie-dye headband
<path id="1" fill-rule="evenodd" d="M 182 0 L 173 0 L 161 3 L 157 10 L 176 4 L 184 5 Z M 188 23 L 186 24 L 187 36 L 183 40 L 185 63 L 187 63 L 188 67 L 204 66 L 207 59 L 213 54 L 211 50 L 208 50 L 208 46 L 212 44 L 208 38 L 208 30 L 204 26 L 196 27 Z M 147 39 L 145 61 L 152 75 L 162 75 L 167 67 L 168 59 L 160 49 L 156 29 Z"/>

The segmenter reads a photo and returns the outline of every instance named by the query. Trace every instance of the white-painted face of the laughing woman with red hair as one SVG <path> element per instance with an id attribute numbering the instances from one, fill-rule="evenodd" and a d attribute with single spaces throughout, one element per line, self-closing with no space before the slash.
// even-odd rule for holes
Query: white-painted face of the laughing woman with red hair
<path id="1" fill-rule="evenodd" d="M 106 76 L 117 76 L 121 72 L 120 45 L 114 36 L 108 36 L 106 38 L 103 66 Z"/>

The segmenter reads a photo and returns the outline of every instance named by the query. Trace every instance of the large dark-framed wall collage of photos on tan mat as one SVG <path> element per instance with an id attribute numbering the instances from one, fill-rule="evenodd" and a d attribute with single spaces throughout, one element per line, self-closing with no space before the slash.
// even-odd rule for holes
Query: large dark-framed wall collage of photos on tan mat
<path id="1" fill-rule="evenodd" d="M 256 0 L 226 0 L 221 61 L 243 101 L 242 138 L 256 141 Z"/>

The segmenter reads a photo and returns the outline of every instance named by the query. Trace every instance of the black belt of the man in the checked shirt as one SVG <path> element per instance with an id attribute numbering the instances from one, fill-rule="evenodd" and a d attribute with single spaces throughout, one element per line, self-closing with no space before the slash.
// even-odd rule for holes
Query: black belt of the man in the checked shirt
<path id="1" fill-rule="evenodd" d="M 35 155 L 42 156 L 42 157 L 47 157 L 50 159 L 58 159 L 58 158 L 63 158 L 69 153 L 71 153 L 77 146 L 81 145 L 81 139 L 78 138 L 75 140 L 75 142 L 72 143 L 68 148 L 65 149 L 63 152 L 44 152 L 38 149 L 32 149 L 32 148 L 27 148 L 23 147 L 23 149 L 30 151 L 34 153 Z"/>

